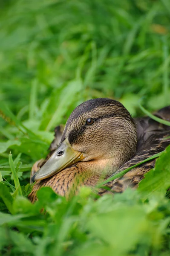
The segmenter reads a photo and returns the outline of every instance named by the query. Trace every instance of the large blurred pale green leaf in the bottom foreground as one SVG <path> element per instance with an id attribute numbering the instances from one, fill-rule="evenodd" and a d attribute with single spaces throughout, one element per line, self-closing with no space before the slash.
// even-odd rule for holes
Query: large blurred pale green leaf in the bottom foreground
<path id="1" fill-rule="evenodd" d="M 95 237 L 114 249 L 115 255 L 127 253 L 144 237 L 144 234 L 147 239 L 150 233 L 146 213 L 137 205 L 120 205 L 106 214 L 92 215 L 86 225 Z"/>

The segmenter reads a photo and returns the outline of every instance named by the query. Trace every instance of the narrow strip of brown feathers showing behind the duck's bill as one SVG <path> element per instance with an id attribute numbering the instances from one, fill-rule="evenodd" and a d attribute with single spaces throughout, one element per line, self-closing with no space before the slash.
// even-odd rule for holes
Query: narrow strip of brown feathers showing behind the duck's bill
<path id="1" fill-rule="evenodd" d="M 52 141 L 52 143 L 49 146 L 49 154 L 46 156 L 46 159 L 40 159 L 37 162 L 35 162 L 35 164 L 32 166 L 31 169 L 31 174 L 30 174 L 30 183 L 32 183 L 32 177 L 35 175 L 35 172 L 37 172 L 41 166 L 44 165 L 44 163 L 46 163 L 46 161 L 49 159 L 49 157 L 51 157 L 52 153 L 55 151 L 56 148 L 58 148 L 58 145 L 61 141 L 61 137 L 63 134 L 63 130 L 64 130 L 64 125 L 59 125 L 57 127 L 55 127 L 55 137 L 54 140 Z"/>

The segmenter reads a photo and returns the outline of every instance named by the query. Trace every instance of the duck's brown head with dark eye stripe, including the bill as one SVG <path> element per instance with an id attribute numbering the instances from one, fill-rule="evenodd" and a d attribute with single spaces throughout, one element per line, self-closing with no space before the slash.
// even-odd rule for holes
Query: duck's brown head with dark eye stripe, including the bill
<path id="1" fill-rule="evenodd" d="M 60 145 L 33 180 L 43 180 L 79 161 L 92 163 L 92 172 L 106 167 L 110 175 L 133 157 L 136 145 L 135 123 L 120 102 L 88 100 L 71 113 Z"/>

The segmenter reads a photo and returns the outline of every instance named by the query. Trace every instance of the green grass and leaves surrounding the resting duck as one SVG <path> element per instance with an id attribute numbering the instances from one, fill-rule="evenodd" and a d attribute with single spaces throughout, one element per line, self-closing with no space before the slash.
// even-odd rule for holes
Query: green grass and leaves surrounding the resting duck
<path id="1" fill-rule="evenodd" d="M 136 191 L 27 199 L 32 164 L 77 105 L 109 97 L 150 115 L 170 105 L 169 70 L 169 0 L 0 1 L 1 255 L 169 255 L 170 147 Z"/>

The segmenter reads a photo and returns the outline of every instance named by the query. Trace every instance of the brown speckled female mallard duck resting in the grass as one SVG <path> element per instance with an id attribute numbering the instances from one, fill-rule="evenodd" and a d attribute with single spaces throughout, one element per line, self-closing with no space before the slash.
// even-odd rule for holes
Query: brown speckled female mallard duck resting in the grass
<path id="1" fill-rule="evenodd" d="M 155 115 L 170 121 L 170 106 Z M 32 177 L 36 181 L 29 195 L 32 201 L 42 186 L 50 186 L 62 196 L 81 186 L 94 187 L 101 178 L 140 163 L 170 144 L 170 139 L 164 139 L 170 136 L 169 126 L 149 117 L 133 119 L 120 102 L 107 98 L 91 99 L 75 108 L 61 134 L 56 128 L 51 154 L 33 166 L 33 172 L 40 169 Z M 113 192 L 137 187 L 154 164 L 155 160 L 142 164 L 107 186 Z"/>

